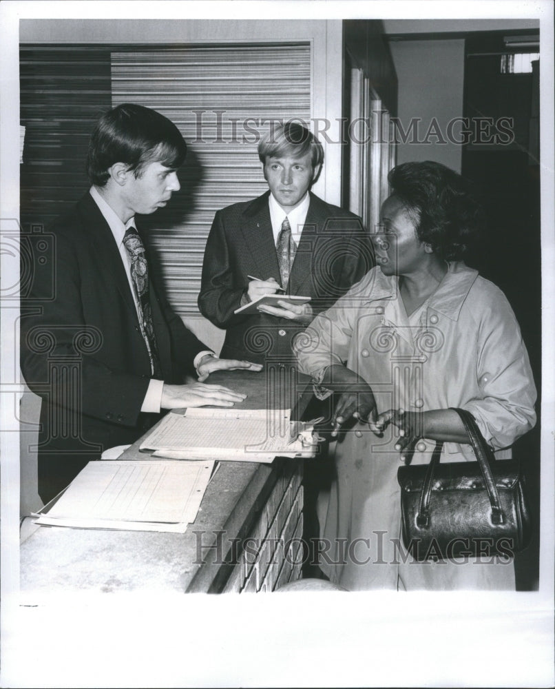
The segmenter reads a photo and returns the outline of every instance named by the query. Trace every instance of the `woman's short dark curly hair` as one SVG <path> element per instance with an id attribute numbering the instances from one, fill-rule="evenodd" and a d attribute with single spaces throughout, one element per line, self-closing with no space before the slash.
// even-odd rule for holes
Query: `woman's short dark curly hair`
<path id="1" fill-rule="evenodd" d="M 485 213 L 470 182 L 434 161 L 401 163 L 390 170 L 388 181 L 391 194 L 415 221 L 419 240 L 441 258 L 463 258 L 485 226 Z"/>

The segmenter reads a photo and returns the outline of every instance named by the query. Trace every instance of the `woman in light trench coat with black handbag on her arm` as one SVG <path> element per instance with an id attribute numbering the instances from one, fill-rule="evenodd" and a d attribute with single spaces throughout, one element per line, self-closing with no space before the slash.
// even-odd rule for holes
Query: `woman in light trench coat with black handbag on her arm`
<path id="1" fill-rule="evenodd" d="M 348 590 L 514 589 L 510 542 L 497 551 L 465 550 L 464 525 L 452 532 L 458 544 L 449 550 L 451 539 L 447 552 L 445 539 L 439 552 L 428 538 L 428 552 L 419 555 L 415 543 L 401 539 L 399 459 L 417 470 L 437 447 L 442 466 L 476 462 L 457 409 L 470 413 L 497 459 L 510 457 L 512 443 L 536 422 L 536 389 L 507 299 L 461 260 L 483 218 L 468 185 L 430 161 L 398 165 L 388 178 L 392 193 L 372 236 L 377 267 L 317 316 L 296 345 L 317 396 L 339 398 L 330 449 L 335 476 L 318 506 L 320 568 Z M 477 482 L 469 481 L 464 471 L 442 484 L 432 477 L 426 498 L 435 491 L 432 503 L 419 494 L 416 516 L 404 507 L 410 536 L 415 529 L 430 533 L 424 512 L 454 484 L 466 493 L 443 518 L 447 528 L 460 526 L 467 497 L 470 503 L 475 497 Z M 507 478 L 484 479 L 486 501 L 499 492 L 496 481 L 501 490 Z"/>

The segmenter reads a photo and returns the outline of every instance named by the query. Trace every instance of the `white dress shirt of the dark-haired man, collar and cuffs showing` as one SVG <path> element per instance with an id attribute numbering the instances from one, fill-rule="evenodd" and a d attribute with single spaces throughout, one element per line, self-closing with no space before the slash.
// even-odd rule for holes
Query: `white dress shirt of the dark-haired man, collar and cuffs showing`
<path id="1" fill-rule="evenodd" d="M 140 304 L 137 301 L 135 289 L 133 287 L 133 280 L 131 277 L 131 256 L 129 256 L 129 252 L 127 251 L 127 249 L 125 248 L 125 244 L 123 243 L 123 237 L 125 236 L 126 230 L 129 229 L 129 227 L 136 227 L 135 217 L 133 216 L 132 218 L 129 218 L 129 220 L 127 220 L 127 223 L 124 224 L 122 220 L 118 217 L 118 214 L 116 214 L 112 206 L 110 206 L 103 199 L 103 197 L 101 196 L 101 194 L 98 193 L 98 190 L 95 187 L 90 188 L 90 195 L 94 199 L 94 203 L 96 203 L 100 212 L 103 214 L 104 219 L 108 223 L 109 228 L 112 230 L 114 240 L 120 252 L 121 262 L 123 263 L 123 267 L 125 269 L 125 275 L 127 275 L 129 289 L 131 290 L 131 294 L 133 296 L 133 300 L 135 303 L 135 308 L 137 310 L 137 318 L 140 320 L 140 318 L 143 317 L 143 313 L 141 311 Z M 202 357 L 207 354 L 213 355 L 213 352 L 210 350 L 200 351 L 196 355 L 193 365 L 197 369 L 197 373 L 198 363 L 200 362 Z M 149 387 L 147 389 L 145 399 L 143 400 L 143 405 L 140 407 L 140 411 L 143 411 L 145 413 L 160 413 L 163 387 L 163 380 L 157 380 L 156 378 L 150 379 Z"/>

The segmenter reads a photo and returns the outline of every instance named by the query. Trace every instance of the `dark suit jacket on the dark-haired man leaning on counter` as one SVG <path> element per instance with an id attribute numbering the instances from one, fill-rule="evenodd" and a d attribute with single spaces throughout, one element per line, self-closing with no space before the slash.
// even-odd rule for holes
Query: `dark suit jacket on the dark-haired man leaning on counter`
<path id="1" fill-rule="evenodd" d="M 21 369 L 43 399 L 44 499 L 87 461 L 134 442 L 159 417 L 140 412 L 149 356 L 118 247 L 92 196 L 58 220 L 42 246 L 34 245 L 32 287 L 21 305 Z M 154 280 L 150 287 L 163 378 L 180 383 L 186 373 L 195 375 L 193 359 L 209 347 L 183 325 Z"/>

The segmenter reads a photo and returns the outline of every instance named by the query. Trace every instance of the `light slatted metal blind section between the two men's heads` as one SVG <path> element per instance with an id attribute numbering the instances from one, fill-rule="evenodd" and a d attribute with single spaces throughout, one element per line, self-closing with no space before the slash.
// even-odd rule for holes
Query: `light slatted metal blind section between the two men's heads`
<path id="1" fill-rule="evenodd" d="M 267 189 L 258 138 L 271 121 L 310 122 L 310 44 L 112 52 L 112 104 L 126 102 L 158 110 L 187 141 L 180 192 L 143 224 L 171 305 L 182 316 L 195 314 L 214 214 Z"/>

